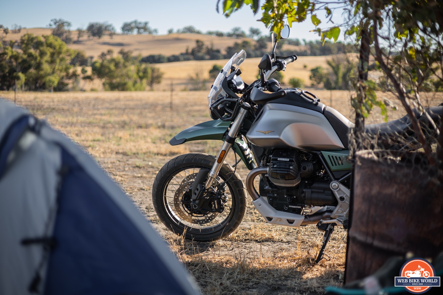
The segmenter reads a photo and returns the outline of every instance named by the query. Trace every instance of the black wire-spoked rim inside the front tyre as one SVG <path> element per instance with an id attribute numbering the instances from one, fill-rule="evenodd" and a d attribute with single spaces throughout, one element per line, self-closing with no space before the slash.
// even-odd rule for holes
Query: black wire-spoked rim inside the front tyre
<path id="1" fill-rule="evenodd" d="M 168 218 L 176 226 L 191 234 L 210 234 L 222 230 L 229 223 L 234 213 L 235 198 L 232 194 L 233 189 L 229 183 L 226 183 L 227 200 L 224 204 L 225 210 L 222 213 L 209 213 L 207 216 L 202 215 L 200 217 L 190 215 L 186 207 L 180 203 L 182 200 L 180 198 L 183 198 L 185 190 L 192 186 L 200 169 L 207 169 L 207 167 L 190 166 L 172 173 L 163 187 L 162 205 Z M 217 183 L 221 181 L 225 181 L 225 179 L 219 175 Z M 186 215 L 188 216 L 186 217 Z"/>

